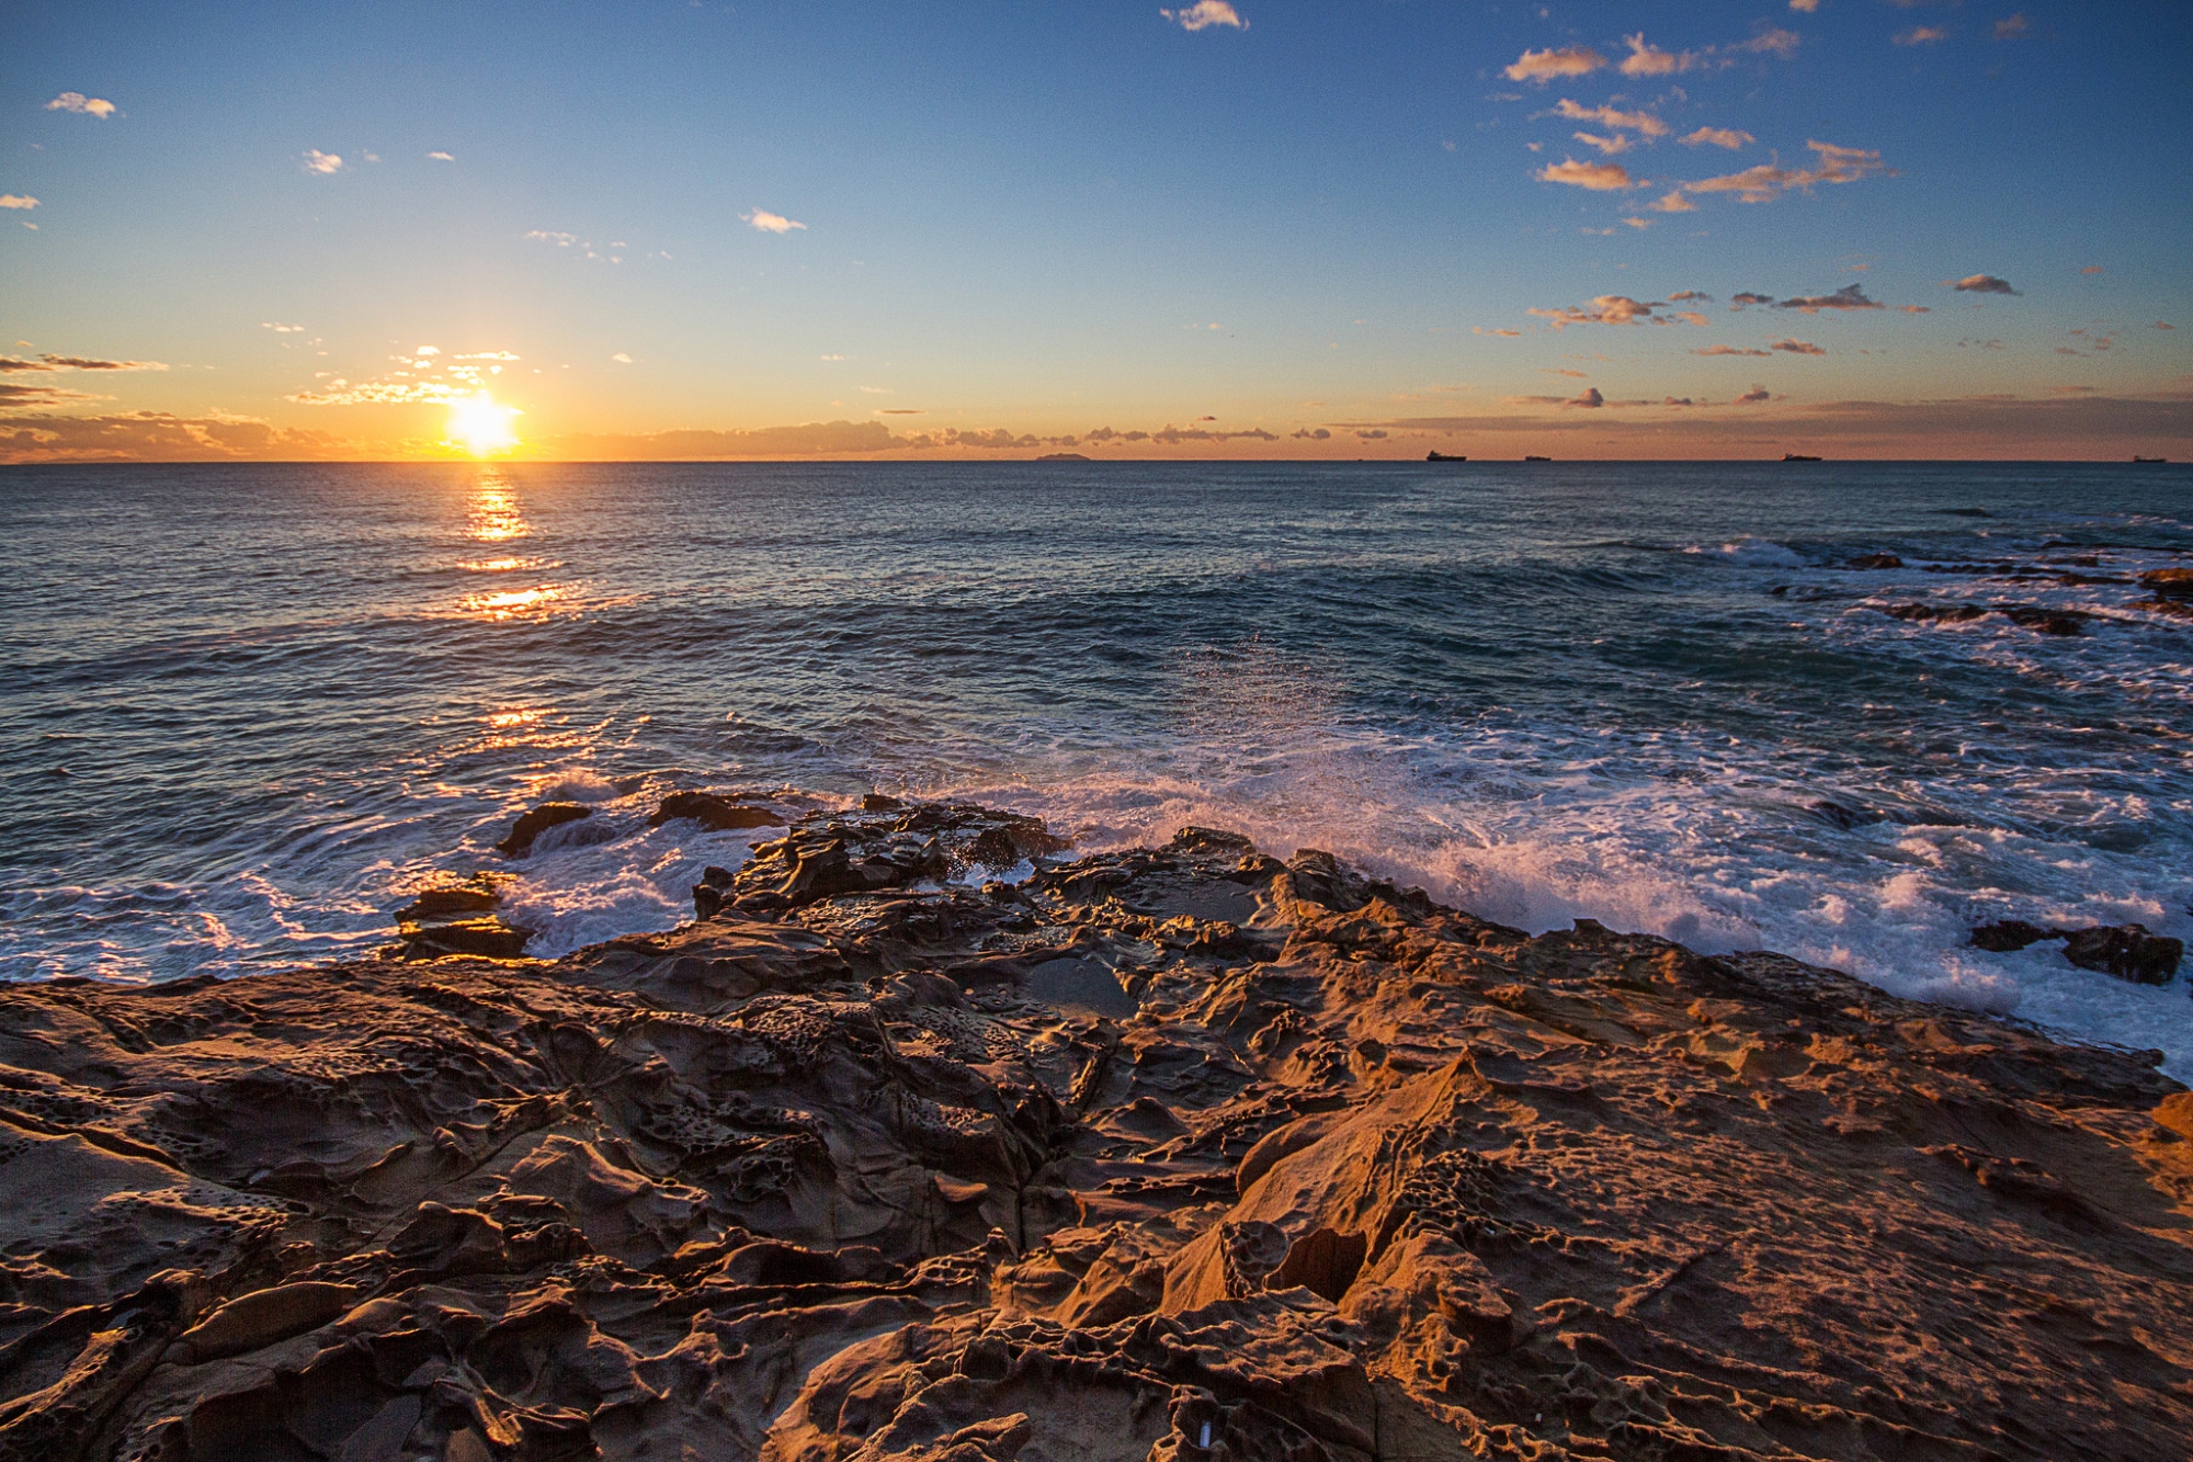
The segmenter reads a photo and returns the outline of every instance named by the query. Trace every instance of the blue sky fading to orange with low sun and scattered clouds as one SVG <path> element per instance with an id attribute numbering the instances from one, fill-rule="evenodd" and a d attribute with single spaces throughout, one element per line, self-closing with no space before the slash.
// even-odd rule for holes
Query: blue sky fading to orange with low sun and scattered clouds
<path id="1" fill-rule="evenodd" d="M 2193 454 L 2193 7 L 0 7 L 0 461 Z"/>

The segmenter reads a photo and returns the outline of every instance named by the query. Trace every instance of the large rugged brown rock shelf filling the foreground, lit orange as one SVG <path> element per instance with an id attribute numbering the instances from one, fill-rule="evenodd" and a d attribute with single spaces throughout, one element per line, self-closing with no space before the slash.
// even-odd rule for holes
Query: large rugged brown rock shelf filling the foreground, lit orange
<path id="1" fill-rule="evenodd" d="M 0 1455 L 2193 1433 L 2193 1095 L 2140 1054 L 1222 832 L 877 801 L 704 887 L 559 961 L 7 990 Z"/>

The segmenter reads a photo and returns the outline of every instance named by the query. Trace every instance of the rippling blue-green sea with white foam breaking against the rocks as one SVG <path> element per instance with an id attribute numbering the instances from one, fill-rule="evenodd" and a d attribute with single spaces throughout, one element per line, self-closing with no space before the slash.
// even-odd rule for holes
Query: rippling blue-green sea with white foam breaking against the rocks
<path id="1" fill-rule="evenodd" d="M 0 977 L 362 955 L 478 867 L 557 955 L 765 836 L 664 792 L 875 788 L 1327 847 L 2193 1080 L 2184 972 L 1967 946 L 2193 937 L 2193 619 L 2134 582 L 2186 564 L 2180 465 L 0 468 Z M 596 814 L 496 854 L 544 799 Z"/>

